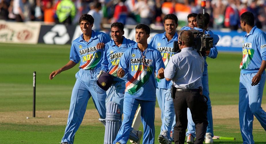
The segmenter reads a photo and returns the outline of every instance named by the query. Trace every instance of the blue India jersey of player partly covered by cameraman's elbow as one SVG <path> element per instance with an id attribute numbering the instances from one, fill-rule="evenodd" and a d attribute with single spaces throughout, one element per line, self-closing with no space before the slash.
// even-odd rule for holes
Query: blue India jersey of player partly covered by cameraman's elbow
<path id="1" fill-rule="evenodd" d="M 167 40 L 166 32 L 164 32 L 161 34 L 156 34 L 149 43 L 152 47 L 160 51 L 165 67 L 168 64 L 169 59 L 175 54 L 173 49 L 174 41 L 178 41 L 177 32 L 175 32 L 173 39 L 171 39 L 170 41 Z M 156 78 L 156 87 L 162 89 L 169 89 L 172 84 L 173 84 L 172 81 L 167 81 L 165 80 L 165 78 L 163 79 Z"/>

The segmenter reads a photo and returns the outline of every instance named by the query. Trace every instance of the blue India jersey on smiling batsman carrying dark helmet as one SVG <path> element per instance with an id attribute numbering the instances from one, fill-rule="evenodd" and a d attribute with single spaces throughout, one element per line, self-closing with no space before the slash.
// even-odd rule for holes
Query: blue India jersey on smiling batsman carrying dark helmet
<path id="1" fill-rule="evenodd" d="M 124 36 L 122 45 L 120 47 L 115 44 L 114 40 L 106 43 L 101 70 L 109 72 L 109 74 L 114 76 L 114 81 L 126 81 L 127 75 L 125 75 L 123 78 L 117 77 L 117 68 L 123 53 L 127 50 L 127 48 L 132 47 L 135 43 L 135 41 L 126 39 Z"/>

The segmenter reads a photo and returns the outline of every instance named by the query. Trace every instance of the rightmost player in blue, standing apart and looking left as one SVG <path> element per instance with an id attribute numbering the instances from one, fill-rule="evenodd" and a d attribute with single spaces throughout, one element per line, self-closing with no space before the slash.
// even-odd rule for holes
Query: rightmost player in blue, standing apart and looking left
<path id="1" fill-rule="evenodd" d="M 240 26 L 247 32 L 242 41 L 243 59 L 240 64 L 239 124 L 244 144 L 254 144 L 254 116 L 266 131 L 266 113 L 261 108 L 266 68 L 266 34 L 254 26 L 254 15 L 244 12 Z"/>

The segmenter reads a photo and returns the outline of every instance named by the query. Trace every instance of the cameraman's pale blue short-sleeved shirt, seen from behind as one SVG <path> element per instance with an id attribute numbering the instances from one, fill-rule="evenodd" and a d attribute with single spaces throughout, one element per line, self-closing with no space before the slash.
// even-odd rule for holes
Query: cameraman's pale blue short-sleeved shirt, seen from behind
<path id="1" fill-rule="evenodd" d="M 173 79 L 177 88 L 198 89 L 202 87 L 203 71 L 204 58 L 192 47 L 186 47 L 170 58 L 164 69 L 164 77 Z"/>

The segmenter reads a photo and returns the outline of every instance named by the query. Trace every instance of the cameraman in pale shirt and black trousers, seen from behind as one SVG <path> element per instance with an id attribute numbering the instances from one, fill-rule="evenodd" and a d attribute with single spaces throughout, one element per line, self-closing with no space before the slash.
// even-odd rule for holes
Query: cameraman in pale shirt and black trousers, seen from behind
<path id="1" fill-rule="evenodd" d="M 178 37 L 180 53 L 173 55 L 164 70 L 167 81 L 173 79 L 176 93 L 174 108 L 176 126 L 174 128 L 175 144 L 185 142 L 187 129 L 187 108 L 190 108 L 192 119 L 196 124 L 195 144 L 202 144 L 206 133 L 207 104 L 202 95 L 202 72 L 204 71 L 204 58 L 192 48 L 194 35 L 191 31 L 181 30 Z"/>

